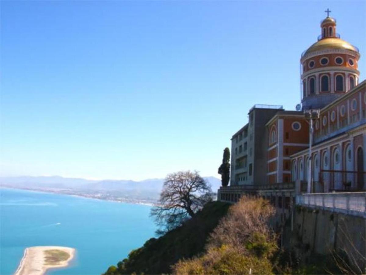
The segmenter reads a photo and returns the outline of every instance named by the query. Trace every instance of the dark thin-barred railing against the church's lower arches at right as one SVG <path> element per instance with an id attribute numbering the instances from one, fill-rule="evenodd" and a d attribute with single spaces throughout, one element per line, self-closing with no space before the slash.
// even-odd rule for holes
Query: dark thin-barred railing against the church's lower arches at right
<path id="1" fill-rule="evenodd" d="M 366 191 L 366 172 L 321 169 L 319 181 L 327 185 L 329 191 Z"/>

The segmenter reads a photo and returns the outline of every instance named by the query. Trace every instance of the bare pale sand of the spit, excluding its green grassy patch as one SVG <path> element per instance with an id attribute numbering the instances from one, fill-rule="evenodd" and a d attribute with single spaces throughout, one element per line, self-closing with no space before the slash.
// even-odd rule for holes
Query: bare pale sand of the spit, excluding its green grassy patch
<path id="1" fill-rule="evenodd" d="M 69 257 L 66 260 L 59 260 L 56 264 L 46 263 L 45 251 L 57 250 L 67 253 Z M 24 251 L 22 260 L 16 269 L 14 275 L 44 275 L 48 269 L 68 267 L 75 256 L 75 249 L 64 246 L 32 246 Z"/>

